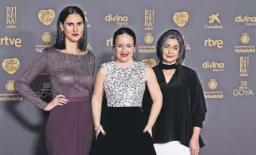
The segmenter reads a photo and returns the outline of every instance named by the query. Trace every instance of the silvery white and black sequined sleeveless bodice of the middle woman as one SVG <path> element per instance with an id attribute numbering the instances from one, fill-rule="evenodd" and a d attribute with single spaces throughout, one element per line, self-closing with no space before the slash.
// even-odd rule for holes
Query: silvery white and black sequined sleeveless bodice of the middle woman
<path id="1" fill-rule="evenodd" d="M 130 68 L 121 68 L 113 61 L 101 66 L 106 72 L 105 93 L 108 107 L 142 107 L 148 64 L 134 62 Z"/>

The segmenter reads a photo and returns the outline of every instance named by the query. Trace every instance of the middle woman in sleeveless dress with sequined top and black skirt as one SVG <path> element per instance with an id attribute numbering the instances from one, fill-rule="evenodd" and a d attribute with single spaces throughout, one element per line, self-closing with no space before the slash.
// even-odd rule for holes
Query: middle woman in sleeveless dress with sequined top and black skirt
<path id="1" fill-rule="evenodd" d="M 151 129 L 162 106 L 162 93 L 152 68 L 133 61 L 135 46 L 133 30 L 118 29 L 113 38 L 116 60 L 103 63 L 96 76 L 92 98 L 96 130 L 93 154 L 156 154 Z M 145 84 L 153 99 L 148 120 L 142 111 Z M 107 108 L 102 111 L 104 91 Z"/>

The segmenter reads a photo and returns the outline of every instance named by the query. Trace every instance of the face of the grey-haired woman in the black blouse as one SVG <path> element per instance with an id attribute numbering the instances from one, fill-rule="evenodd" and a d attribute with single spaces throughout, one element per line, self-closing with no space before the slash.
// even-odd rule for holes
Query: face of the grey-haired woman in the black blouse
<path id="1" fill-rule="evenodd" d="M 178 60 L 180 45 L 177 39 L 168 38 L 163 44 L 163 63 L 171 65 Z"/>

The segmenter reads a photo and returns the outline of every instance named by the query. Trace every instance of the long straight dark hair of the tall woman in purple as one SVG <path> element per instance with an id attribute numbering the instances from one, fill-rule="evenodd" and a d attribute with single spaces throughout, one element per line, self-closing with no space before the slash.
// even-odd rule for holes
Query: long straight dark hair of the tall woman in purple
<path id="1" fill-rule="evenodd" d="M 79 14 L 81 16 L 81 18 L 83 19 L 84 36 L 79 39 L 78 48 L 79 48 L 79 50 L 84 51 L 84 50 L 87 49 L 87 24 L 86 24 L 86 21 L 85 21 L 84 12 L 81 11 L 81 9 L 76 7 L 76 6 L 66 7 L 60 12 L 58 20 L 57 20 L 56 42 L 53 45 L 53 47 L 56 48 L 56 49 L 59 49 L 59 50 L 66 49 L 65 34 L 63 33 L 63 36 L 62 36 L 62 32 L 61 32 L 61 29 L 60 29 L 60 23 L 63 24 L 65 22 L 66 18 L 70 14 Z"/>

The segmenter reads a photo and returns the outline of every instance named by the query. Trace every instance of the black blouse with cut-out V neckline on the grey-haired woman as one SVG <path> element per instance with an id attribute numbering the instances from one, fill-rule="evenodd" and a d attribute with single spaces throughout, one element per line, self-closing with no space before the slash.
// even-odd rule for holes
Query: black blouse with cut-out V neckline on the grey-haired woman
<path id="1" fill-rule="evenodd" d="M 206 102 L 203 89 L 196 71 L 184 65 L 177 65 L 169 83 L 166 83 L 163 69 L 166 66 L 155 66 L 154 73 L 163 93 L 163 106 L 153 128 L 154 143 L 180 141 L 189 146 L 194 126 L 203 128 L 206 116 Z M 152 99 L 145 90 L 143 111 L 149 116 Z M 200 147 L 203 147 L 200 137 Z"/>

